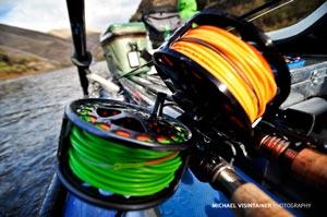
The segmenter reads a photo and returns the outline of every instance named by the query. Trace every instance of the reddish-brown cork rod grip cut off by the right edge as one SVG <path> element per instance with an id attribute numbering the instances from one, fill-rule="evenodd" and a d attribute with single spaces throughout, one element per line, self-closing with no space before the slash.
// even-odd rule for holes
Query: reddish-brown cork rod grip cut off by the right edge
<path id="1" fill-rule="evenodd" d="M 293 159 L 291 170 L 305 183 L 327 191 L 327 155 L 304 148 Z"/>

